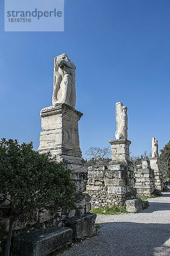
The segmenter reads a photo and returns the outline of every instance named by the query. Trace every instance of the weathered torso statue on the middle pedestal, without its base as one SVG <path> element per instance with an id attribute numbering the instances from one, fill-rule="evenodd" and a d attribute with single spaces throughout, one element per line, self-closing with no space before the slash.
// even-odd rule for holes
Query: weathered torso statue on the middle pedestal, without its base
<path id="1" fill-rule="evenodd" d="M 116 103 L 116 140 L 127 139 L 127 107 L 122 102 Z"/>

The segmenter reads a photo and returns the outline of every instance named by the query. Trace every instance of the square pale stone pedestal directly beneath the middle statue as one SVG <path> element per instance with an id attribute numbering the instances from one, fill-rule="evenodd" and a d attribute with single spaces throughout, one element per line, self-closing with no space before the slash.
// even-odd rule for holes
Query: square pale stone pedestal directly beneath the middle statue
<path id="1" fill-rule="evenodd" d="M 132 166 L 132 162 L 130 162 L 130 153 L 129 153 L 129 145 L 131 144 L 130 140 L 122 139 L 122 140 L 110 140 L 111 144 L 111 155 L 112 160 L 110 164 L 124 164 L 128 166 Z"/>

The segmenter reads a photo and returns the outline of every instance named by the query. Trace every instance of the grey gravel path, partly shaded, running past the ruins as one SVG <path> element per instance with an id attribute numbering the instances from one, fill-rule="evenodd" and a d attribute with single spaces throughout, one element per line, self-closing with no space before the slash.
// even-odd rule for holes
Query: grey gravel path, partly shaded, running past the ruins
<path id="1" fill-rule="evenodd" d="M 170 192 L 137 214 L 97 215 L 98 235 L 60 256 L 170 256 Z"/>

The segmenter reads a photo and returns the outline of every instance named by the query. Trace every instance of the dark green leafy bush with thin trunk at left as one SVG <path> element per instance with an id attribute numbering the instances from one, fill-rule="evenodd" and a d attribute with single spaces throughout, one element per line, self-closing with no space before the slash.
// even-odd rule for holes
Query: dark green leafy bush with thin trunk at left
<path id="1" fill-rule="evenodd" d="M 71 207 L 75 186 L 64 163 L 50 153 L 33 150 L 33 143 L 2 139 L 0 142 L 0 217 L 10 225 L 6 241 L 9 255 L 13 223 L 23 213 L 47 204 Z"/>

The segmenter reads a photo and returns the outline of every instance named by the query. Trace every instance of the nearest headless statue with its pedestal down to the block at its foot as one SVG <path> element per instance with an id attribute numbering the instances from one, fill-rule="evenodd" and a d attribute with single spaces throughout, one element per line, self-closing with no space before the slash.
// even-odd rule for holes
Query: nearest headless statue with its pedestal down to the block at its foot
<path id="1" fill-rule="evenodd" d="M 75 70 L 74 63 L 65 53 L 54 58 L 52 106 L 40 111 L 42 132 L 38 151 L 50 151 L 55 161 L 64 161 L 71 170 L 71 179 L 77 191 L 75 209 L 67 213 L 71 221 L 67 225 L 70 223 L 77 239 L 94 234 L 96 215 L 88 213 L 91 210 L 91 197 L 83 193 L 86 190 L 87 167 L 79 146 L 78 122 L 83 114 L 75 109 Z M 81 232 L 77 225 L 82 225 Z"/>

